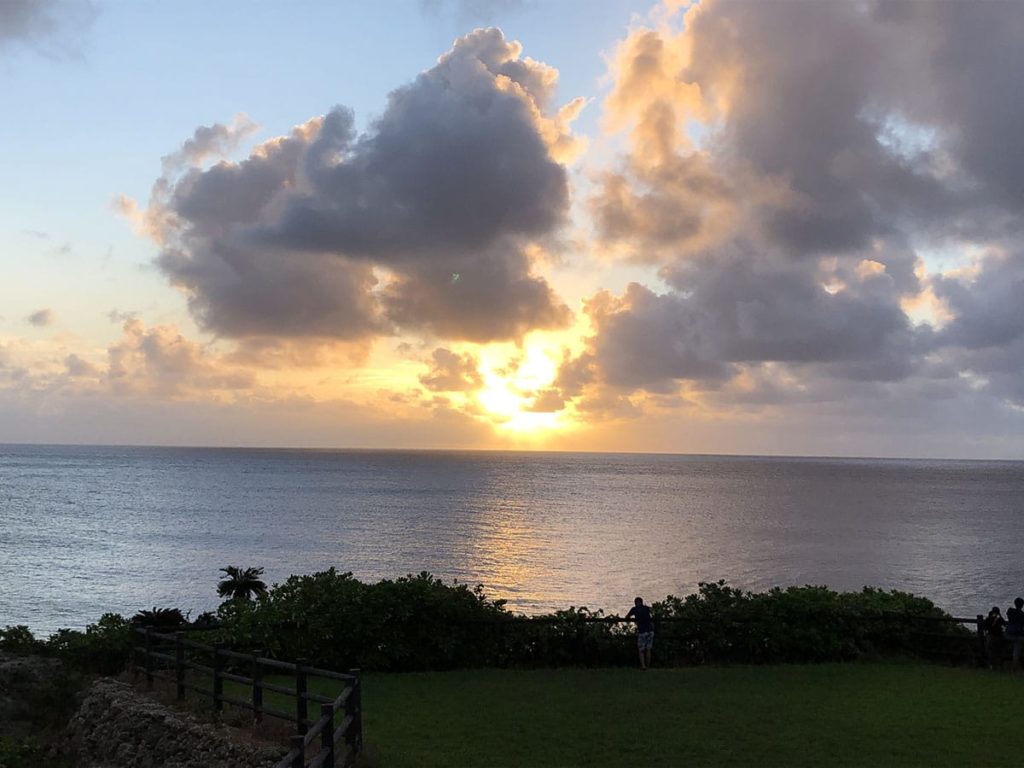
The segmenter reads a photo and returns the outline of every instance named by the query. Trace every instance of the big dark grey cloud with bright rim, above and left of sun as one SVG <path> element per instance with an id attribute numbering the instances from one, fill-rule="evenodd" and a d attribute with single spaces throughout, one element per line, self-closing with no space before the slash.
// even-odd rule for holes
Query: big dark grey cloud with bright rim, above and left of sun
<path id="1" fill-rule="evenodd" d="M 240 163 L 165 176 L 147 212 L 158 263 L 204 328 L 232 337 L 489 341 L 563 325 L 528 256 L 568 209 L 555 82 L 478 30 L 361 135 L 337 108 Z"/>

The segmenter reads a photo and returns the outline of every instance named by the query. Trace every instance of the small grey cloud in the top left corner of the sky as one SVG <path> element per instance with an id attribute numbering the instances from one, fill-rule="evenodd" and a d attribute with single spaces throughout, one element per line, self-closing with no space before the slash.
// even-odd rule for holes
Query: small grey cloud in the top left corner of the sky
<path id="1" fill-rule="evenodd" d="M 89 0 L 3 0 L 0 52 L 27 45 L 48 55 L 74 52 L 78 36 L 92 23 Z"/>

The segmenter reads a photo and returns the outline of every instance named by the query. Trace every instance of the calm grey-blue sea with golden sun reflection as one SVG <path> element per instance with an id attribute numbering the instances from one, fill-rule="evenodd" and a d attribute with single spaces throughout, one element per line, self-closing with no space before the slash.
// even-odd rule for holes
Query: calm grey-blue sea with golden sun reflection
<path id="1" fill-rule="evenodd" d="M 215 607 L 218 569 L 428 570 L 524 612 L 725 579 L 1024 593 L 1024 463 L 0 446 L 0 626 Z"/>

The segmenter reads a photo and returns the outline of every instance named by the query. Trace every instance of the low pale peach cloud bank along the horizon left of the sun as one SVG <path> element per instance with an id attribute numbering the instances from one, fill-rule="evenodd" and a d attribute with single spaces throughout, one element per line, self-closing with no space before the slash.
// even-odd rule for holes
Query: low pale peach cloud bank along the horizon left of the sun
<path id="1" fill-rule="evenodd" d="M 472 378 L 468 362 L 463 375 Z M 173 326 L 125 321 L 105 349 L 0 338 L 0 437 L 9 441 L 482 447 L 486 425 L 416 391 L 322 387 L 260 371 Z M 340 382 L 339 382 L 340 383 Z M 326 395 L 326 396 L 325 396 Z"/>

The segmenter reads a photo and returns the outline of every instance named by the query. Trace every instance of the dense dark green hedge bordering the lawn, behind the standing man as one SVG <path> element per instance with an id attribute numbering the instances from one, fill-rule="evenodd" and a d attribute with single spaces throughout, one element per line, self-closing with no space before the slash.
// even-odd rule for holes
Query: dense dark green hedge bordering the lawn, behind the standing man
<path id="1" fill-rule="evenodd" d="M 654 655 L 662 665 L 768 664 L 925 655 L 940 635 L 950 654 L 970 652 L 963 627 L 928 623 L 945 614 L 903 592 L 840 593 L 791 587 L 751 593 L 725 582 L 654 603 Z M 586 607 L 528 620 L 481 588 L 429 573 L 365 584 L 334 569 L 292 577 L 256 601 L 218 612 L 213 638 L 236 648 L 345 670 L 616 666 L 636 663 L 630 625 Z M 965 642 L 966 641 L 966 642 Z M 931 641 L 929 641 L 931 642 Z M 927 646 L 927 647 L 926 647 Z"/>

